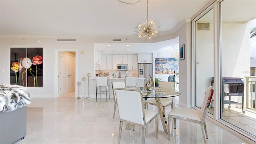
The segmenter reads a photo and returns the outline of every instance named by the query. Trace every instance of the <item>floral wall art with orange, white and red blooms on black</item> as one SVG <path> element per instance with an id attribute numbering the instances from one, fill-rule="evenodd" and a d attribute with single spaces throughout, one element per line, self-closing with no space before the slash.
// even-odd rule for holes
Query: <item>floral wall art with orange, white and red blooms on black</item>
<path id="1" fill-rule="evenodd" d="M 43 48 L 11 48 L 10 84 L 44 87 Z"/>

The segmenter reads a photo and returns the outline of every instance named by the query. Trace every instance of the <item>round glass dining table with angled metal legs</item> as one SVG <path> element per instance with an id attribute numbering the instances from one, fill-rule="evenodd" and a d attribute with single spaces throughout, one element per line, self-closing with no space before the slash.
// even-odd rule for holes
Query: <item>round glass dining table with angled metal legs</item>
<path id="1" fill-rule="evenodd" d="M 133 88 L 129 88 L 133 89 Z M 142 90 L 142 97 L 145 98 L 145 102 L 148 98 L 154 98 L 156 100 L 158 114 L 160 116 L 164 132 L 168 134 L 168 124 L 164 110 L 162 109 L 161 98 L 171 98 L 180 96 L 180 93 L 176 90 L 166 88 L 153 88 L 152 90 Z"/>

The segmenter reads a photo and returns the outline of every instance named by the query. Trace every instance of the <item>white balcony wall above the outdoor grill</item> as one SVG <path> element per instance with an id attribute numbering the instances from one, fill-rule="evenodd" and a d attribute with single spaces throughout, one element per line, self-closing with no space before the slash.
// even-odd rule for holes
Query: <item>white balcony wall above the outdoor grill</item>
<path id="1" fill-rule="evenodd" d="M 248 23 L 222 23 L 222 77 L 250 76 Z"/>

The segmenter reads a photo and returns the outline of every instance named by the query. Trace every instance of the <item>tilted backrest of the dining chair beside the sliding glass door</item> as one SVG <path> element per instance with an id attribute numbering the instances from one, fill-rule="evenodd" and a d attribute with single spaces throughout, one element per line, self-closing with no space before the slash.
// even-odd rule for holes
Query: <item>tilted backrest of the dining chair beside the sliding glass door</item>
<path id="1" fill-rule="evenodd" d="M 204 101 L 202 104 L 202 108 L 201 108 L 201 115 L 200 115 L 200 119 L 202 122 L 205 121 L 207 113 L 209 111 L 210 108 L 210 103 L 212 101 L 212 96 L 213 96 L 214 90 L 212 86 L 209 86 L 206 90 L 206 93 L 204 95 Z"/>

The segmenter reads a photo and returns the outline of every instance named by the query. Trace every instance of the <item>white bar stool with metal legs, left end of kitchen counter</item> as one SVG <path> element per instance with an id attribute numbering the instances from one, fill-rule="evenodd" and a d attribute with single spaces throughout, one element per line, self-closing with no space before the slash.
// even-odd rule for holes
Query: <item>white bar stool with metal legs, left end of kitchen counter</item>
<path id="1" fill-rule="evenodd" d="M 98 86 L 100 87 L 100 93 L 98 93 Z M 106 86 L 106 91 L 101 91 L 101 87 Z M 106 76 L 96 76 L 96 101 L 97 101 L 97 94 L 105 94 L 106 92 L 106 100 L 108 101 L 109 98 L 109 84 L 108 78 Z"/>

